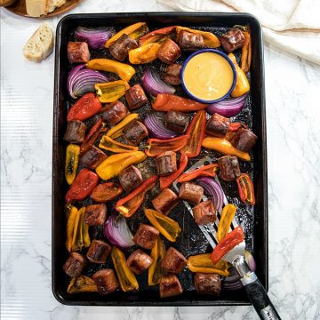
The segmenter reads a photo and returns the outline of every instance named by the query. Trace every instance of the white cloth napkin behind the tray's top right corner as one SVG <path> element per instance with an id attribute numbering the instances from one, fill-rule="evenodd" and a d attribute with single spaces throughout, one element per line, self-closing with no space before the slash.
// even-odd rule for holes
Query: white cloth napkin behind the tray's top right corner
<path id="1" fill-rule="evenodd" d="M 249 12 L 264 40 L 320 65 L 320 0 L 157 0 L 176 11 Z"/>

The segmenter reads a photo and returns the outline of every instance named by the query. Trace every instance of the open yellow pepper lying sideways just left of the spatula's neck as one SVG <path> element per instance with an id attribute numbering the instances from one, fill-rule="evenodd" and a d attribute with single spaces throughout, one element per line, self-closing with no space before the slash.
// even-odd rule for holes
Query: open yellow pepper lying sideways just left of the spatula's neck
<path id="1" fill-rule="evenodd" d="M 215 273 L 220 276 L 228 276 L 230 264 L 224 260 L 213 264 L 210 256 L 211 253 L 203 253 L 188 257 L 188 269 L 191 272 Z"/>

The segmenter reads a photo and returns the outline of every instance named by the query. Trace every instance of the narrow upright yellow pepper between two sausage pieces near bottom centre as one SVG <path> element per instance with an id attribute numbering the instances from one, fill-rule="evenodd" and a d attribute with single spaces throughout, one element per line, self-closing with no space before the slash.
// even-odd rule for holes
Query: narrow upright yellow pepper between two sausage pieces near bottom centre
<path id="1" fill-rule="evenodd" d="M 164 275 L 164 271 L 161 268 L 161 261 L 164 259 L 164 253 L 164 241 L 160 238 L 160 236 L 158 236 L 150 253 L 153 262 L 148 268 L 148 285 L 159 284 L 161 276 Z"/>

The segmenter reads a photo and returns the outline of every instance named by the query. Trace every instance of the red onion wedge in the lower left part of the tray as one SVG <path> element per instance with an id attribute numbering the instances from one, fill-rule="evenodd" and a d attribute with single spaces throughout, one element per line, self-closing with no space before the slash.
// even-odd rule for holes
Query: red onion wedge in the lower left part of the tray
<path id="1" fill-rule="evenodd" d="M 113 212 L 103 228 L 104 235 L 110 242 L 120 248 L 130 248 L 134 245 L 132 232 L 123 215 Z"/>

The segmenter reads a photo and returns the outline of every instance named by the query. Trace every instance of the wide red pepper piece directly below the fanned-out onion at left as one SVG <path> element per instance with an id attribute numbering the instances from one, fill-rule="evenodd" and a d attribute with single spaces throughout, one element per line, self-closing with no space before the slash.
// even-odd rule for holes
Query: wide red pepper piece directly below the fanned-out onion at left
<path id="1" fill-rule="evenodd" d="M 93 92 L 88 92 L 79 100 L 76 100 L 76 103 L 68 110 L 67 121 L 84 121 L 100 113 L 101 109 L 102 104 L 99 98 Z"/>

